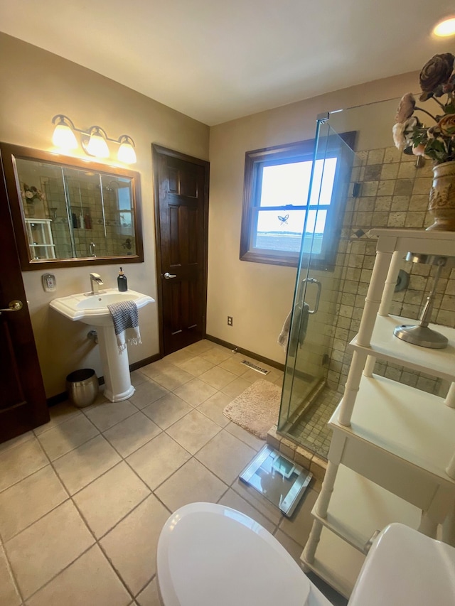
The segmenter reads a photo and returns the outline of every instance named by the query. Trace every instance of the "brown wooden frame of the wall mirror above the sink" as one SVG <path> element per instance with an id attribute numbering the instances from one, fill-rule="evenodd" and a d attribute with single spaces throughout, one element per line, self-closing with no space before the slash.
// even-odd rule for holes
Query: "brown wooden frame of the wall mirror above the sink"
<path id="1" fill-rule="evenodd" d="M 16 236 L 16 245 L 18 256 L 23 271 L 33 269 L 48 269 L 49 267 L 76 267 L 84 265 L 102 265 L 102 264 L 125 264 L 125 263 L 143 263 L 144 262 L 144 244 L 142 242 L 142 222 L 141 222 L 141 183 L 140 174 L 136 171 L 130 171 L 128 168 L 111 166 L 109 164 L 100 164 L 85 160 L 84 158 L 73 158 L 63 156 L 60 153 L 50 151 L 41 151 L 29 147 L 22 147 L 7 143 L 0 143 L 0 161 L 6 185 L 6 195 L 13 220 L 14 233 Z M 18 178 L 16 178 L 16 158 L 24 160 L 43 161 L 57 166 L 68 168 L 90 168 L 91 171 L 112 175 L 112 177 L 127 177 L 132 180 L 132 203 L 134 220 L 134 237 L 136 239 L 136 254 L 119 256 L 85 256 L 71 257 L 68 259 L 31 259 L 27 239 L 25 216 L 22 210 L 22 198 Z"/>

